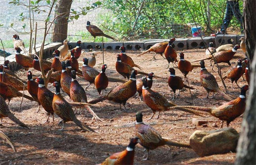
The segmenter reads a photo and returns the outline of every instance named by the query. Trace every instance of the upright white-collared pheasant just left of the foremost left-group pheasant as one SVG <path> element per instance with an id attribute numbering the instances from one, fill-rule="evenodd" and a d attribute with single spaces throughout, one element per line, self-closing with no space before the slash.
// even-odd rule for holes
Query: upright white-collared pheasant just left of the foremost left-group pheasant
<path id="1" fill-rule="evenodd" d="M 40 104 L 43 106 L 47 112 L 47 119 L 44 123 L 48 122 L 50 115 L 52 115 L 52 121 L 54 121 L 54 110 L 52 108 L 52 99 L 54 94 L 45 87 L 45 81 L 42 78 L 37 78 L 36 82 L 38 83 L 38 92 L 37 98 Z"/>

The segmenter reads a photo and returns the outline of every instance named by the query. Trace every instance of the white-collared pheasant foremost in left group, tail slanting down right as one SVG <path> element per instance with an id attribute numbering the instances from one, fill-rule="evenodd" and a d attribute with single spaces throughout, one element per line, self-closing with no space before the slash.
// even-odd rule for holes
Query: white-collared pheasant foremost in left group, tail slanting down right
<path id="1" fill-rule="evenodd" d="M 76 125 L 78 125 L 78 127 L 82 128 L 83 130 L 86 128 L 86 130 L 94 132 L 94 130 L 88 126 L 83 127 L 81 121 L 76 118 L 74 111 L 72 110 L 72 106 L 70 106 L 69 103 L 60 94 L 60 84 L 58 82 L 54 82 L 52 85 L 56 88 L 56 92 L 52 100 L 52 108 L 54 113 L 56 113 L 62 119 L 58 123 L 58 125 L 60 125 L 60 123 L 63 122 L 63 127 L 61 130 L 63 130 L 64 124 L 67 121 L 74 121 L 74 123 L 76 123 Z"/>

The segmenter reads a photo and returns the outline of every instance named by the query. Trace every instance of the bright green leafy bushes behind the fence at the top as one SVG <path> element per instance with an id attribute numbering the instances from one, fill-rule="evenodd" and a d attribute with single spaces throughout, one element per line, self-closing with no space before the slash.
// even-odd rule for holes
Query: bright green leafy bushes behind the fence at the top
<path id="1" fill-rule="evenodd" d="M 193 13 L 193 17 L 204 30 L 206 30 L 207 20 L 207 1 L 208 0 L 186 0 L 186 3 Z M 113 12 L 112 16 L 106 18 L 102 23 L 108 29 L 116 31 L 124 37 L 133 36 L 133 38 L 165 38 L 170 36 L 186 37 L 186 31 L 191 34 L 190 29 L 186 27 L 188 23 L 194 23 L 184 0 L 145 0 L 135 29 L 135 18 L 138 15 L 139 8 L 143 0 L 103 0 L 103 6 Z M 217 29 L 221 26 L 224 16 L 223 10 L 226 0 L 210 1 L 211 9 L 211 29 Z M 242 9 L 242 1 L 239 2 Z M 236 19 L 231 22 L 239 27 Z"/>

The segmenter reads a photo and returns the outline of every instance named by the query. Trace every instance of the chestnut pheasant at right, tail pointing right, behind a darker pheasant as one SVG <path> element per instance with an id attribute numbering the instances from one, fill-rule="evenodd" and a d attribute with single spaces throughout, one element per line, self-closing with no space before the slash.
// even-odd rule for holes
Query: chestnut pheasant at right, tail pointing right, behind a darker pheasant
<path id="1" fill-rule="evenodd" d="M 186 79 L 187 74 L 191 72 L 194 68 L 200 67 L 200 65 L 191 65 L 189 61 L 184 59 L 184 53 L 179 53 L 179 54 L 180 54 L 180 61 L 178 62 L 178 68 L 180 72 L 184 74 L 184 79 Z"/>

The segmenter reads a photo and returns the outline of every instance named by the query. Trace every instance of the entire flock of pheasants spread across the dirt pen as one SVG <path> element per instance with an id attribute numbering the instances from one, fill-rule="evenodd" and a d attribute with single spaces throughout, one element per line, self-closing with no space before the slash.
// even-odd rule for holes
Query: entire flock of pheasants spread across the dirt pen
<path id="1" fill-rule="evenodd" d="M 87 22 L 87 30 L 94 36 L 94 38 L 96 36 L 105 36 L 116 40 L 113 37 L 105 35 L 100 29 L 98 29 L 98 27 L 91 25 L 90 22 Z M 97 103 L 102 101 L 104 105 L 104 102 L 108 100 L 111 104 L 119 103 L 121 113 L 126 113 L 131 111 L 130 108 L 126 107 L 126 104 L 129 102 L 131 97 L 136 96 L 136 93 L 138 93 L 137 97 L 140 99 L 140 102 L 143 101 L 153 112 L 152 116 L 148 120 L 161 118 L 160 112 L 173 110 L 173 112 L 176 113 L 176 111 L 174 111 L 174 109 L 176 109 L 195 116 L 206 116 L 209 113 L 211 116 L 221 120 L 222 128 L 223 121 L 226 121 L 226 125 L 228 127 L 230 122 L 241 116 L 245 111 L 246 91 L 249 89 L 247 83 L 249 84 L 250 77 L 247 59 L 239 59 L 236 66 L 230 68 L 227 73 L 223 74 L 223 81 L 225 79 L 230 79 L 232 82 L 232 88 L 234 89 L 233 82 L 235 81 L 237 84 L 237 81 L 245 73 L 247 83 L 244 82 L 244 86 L 241 88 L 237 84 L 237 87 L 240 88 L 240 94 L 236 96 L 231 94 L 227 95 L 219 88 L 221 83 L 216 81 L 214 75 L 217 75 L 217 72 L 213 71 L 215 64 L 218 64 L 219 67 L 228 67 L 225 63 L 231 66 L 230 61 L 233 59 L 234 55 L 236 55 L 237 49 L 245 48 L 243 45 L 245 44 L 244 38 L 241 38 L 241 46 L 223 45 L 218 49 L 215 49 L 212 47 L 212 43 L 210 43 L 209 49 L 206 49 L 206 55 L 204 55 L 205 58 L 190 62 L 186 59 L 186 51 L 179 53 L 180 59 L 177 59 L 178 53 L 176 53 L 175 49 L 173 49 L 171 46 L 175 38 L 171 38 L 169 42 L 160 42 L 155 44 L 147 51 L 144 51 L 135 57 L 138 58 L 142 55 L 147 56 L 146 53 L 150 51 L 155 52 L 155 55 L 159 53 L 162 57 L 164 54 L 165 58 L 163 57 L 164 59 L 161 59 L 161 62 L 168 64 L 166 69 L 166 72 L 170 72 L 168 77 L 160 77 L 158 76 L 158 73 L 151 72 L 150 66 L 135 64 L 133 59 L 128 56 L 128 53 L 126 54 L 126 49 L 124 46 L 120 47 L 121 52 L 115 53 L 116 58 L 113 59 L 113 61 L 116 60 L 116 71 L 110 71 L 108 70 L 109 64 L 100 64 L 99 62 L 96 62 L 95 53 L 92 53 L 92 57 L 89 59 L 81 59 L 81 41 L 77 42 L 74 49 L 68 51 L 68 42 L 67 40 L 64 40 L 63 46 L 53 52 L 53 59 L 50 59 L 49 61 L 41 61 L 43 72 L 46 74 L 46 76 L 48 76 L 47 74 L 50 70 L 53 71 L 48 77 L 48 83 L 55 87 L 55 91 L 49 90 L 52 89 L 52 87 L 46 88 L 47 84 L 40 77 L 40 75 L 35 76 L 37 75 L 38 71 L 41 72 L 38 57 L 35 56 L 34 59 L 31 59 L 28 55 L 22 55 L 20 53 L 22 50 L 24 50 L 26 53 L 24 43 L 18 35 L 13 35 L 13 38 L 16 50 L 15 59 L 16 62 L 20 64 L 27 73 L 27 81 L 21 79 L 19 75 L 15 75 L 15 72 L 9 70 L 9 61 L 4 62 L 4 66 L 0 66 L 1 123 L 4 117 L 8 117 L 21 127 L 26 127 L 29 129 L 32 127 L 32 130 L 33 127 L 35 127 L 29 123 L 22 123 L 22 119 L 17 119 L 15 115 L 13 115 L 11 110 L 8 108 L 13 97 L 20 97 L 20 99 L 24 97 L 25 99 L 32 101 L 32 104 L 39 105 L 37 113 L 39 110 L 44 109 L 47 114 L 47 119 L 44 123 L 46 125 L 48 125 L 50 116 L 52 116 L 52 121 L 54 123 L 54 116 L 57 115 L 60 117 L 61 119 L 57 119 L 58 125 L 62 124 L 61 131 L 65 130 L 64 126 L 66 122 L 73 121 L 83 131 L 97 133 L 97 129 L 91 128 L 94 127 L 93 125 L 89 127 L 89 125 L 81 122 L 77 118 L 77 116 L 80 116 L 81 107 L 84 107 L 96 121 L 104 122 L 104 120 L 100 119 L 100 117 L 95 114 L 93 108 L 91 107 L 97 107 Z M 243 49 L 243 51 L 246 50 Z M 156 59 L 155 55 L 153 59 Z M 210 64 L 212 65 L 211 73 L 206 69 L 204 62 L 206 60 L 210 60 Z M 194 63 L 197 61 L 200 61 L 200 64 Z M 170 62 L 173 64 L 173 67 L 171 68 L 169 68 Z M 93 68 L 97 63 L 98 66 L 102 66 L 100 72 L 96 68 Z M 202 87 L 206 90 L 206 99 L 208 99 L 210 92 L 213 92 L 212 98 L 214 98 L 215 94 L 217 93 L 221 95 L 223 100 L 228 102 L 218 107 L 179 106 L 175 104 L 176 99 L 180 95 L 183 88 L 193 91 L 203 89 L 200 86 L 195 86 L 195 83 L 191 85 L 189 82 L 191 74 L 190 72 L 192 70 L 198 70 L 197 68 L 200 68 L 200 73 L 198 73 L 197 79 Z M 159 68 L 159 71 L 163 72 L 164 69 L 165 68 Z M 142 70 L 147 70 L 147 73 L 142 72 Z M 110 76 L 109 72 L 111 73 L 112 77 Z M 124 77 L 124 79 L 117 75 L 117 73 Z M 176 75 L 176 73 L 183 75 L 183 78 Z M 143 77 L 137 79 L 138 75 L 143 75 Z M 128 80 L 126 80 L 126 78 Z M 164 83 L 165 86 L 169 85 L 173 91 L 173 96 L 165 97 L 163 94 L 161 94 L 161 91 L 151 89 L 152 86 L 154 87 L 153 78 L 158 79 Z M 88 82 L 89 84 L 87 83 L 88 85 L 84 87 L 82 84 L 85 82 Z M 115 84 L 115 86 L 114 88 L 109 89 L 109 84 L 112 83 Z M 50 86 L 50 84 L 48 86 Z M 88 90 L 91 84 L 94 84 L 97 92 Z M 23 90 L 27 90 L 27 92 L 22 94 Z M 109 92 L 107 93 L 106 90 Z M 177 96 L 176 90 L 179 91 Z M 141 99 L 141 95 L 143 99 Z M 194 96 L 191 95 L 191 97 Z M 8 104 L 6 103 L 7 100 Z M 209 99 L 209 101 L 212 100 Z M 124 107 L 124 109 L 122 109 L 121 105 Z M 41 106 L 43 108 L 40 108 Z M 106 108 L 107 106 L 102 106 L 101 104 L 102 110 Z M 156 112 L 158 112 L 157 117 L 153 118 Z M 133 116 L 134 118 L 131 120 L 135 119 L 135 113 Z M 148 154 L 149 150 L 154 150 L 163 145 L 191 148 L 187 143 L 180 143 L 162 138 L 156 129 L 143 123 L 142 117 L 143 114 L 140 111 L 137 112 L 134 138 L 130 139 L 129 145 L 122 152 L 115 153 L 106 158 L 102 164 L 133 164 L 135 155 L 134 149 L 137 143 L 143 146 L 147 151 L 147 153 L 143 156 L 144 160 L 150 158 Z M 134 130 L 131 131 L 134 132 Z"/>

